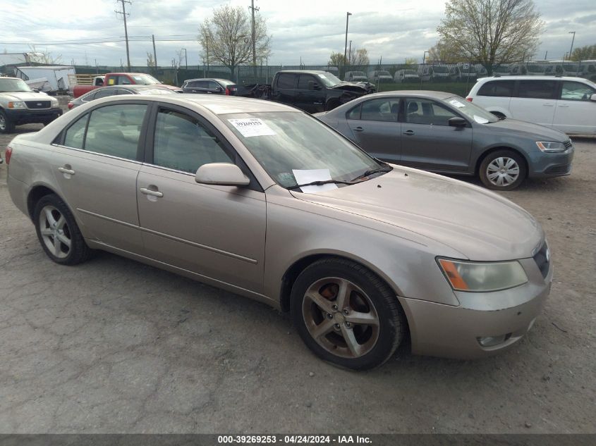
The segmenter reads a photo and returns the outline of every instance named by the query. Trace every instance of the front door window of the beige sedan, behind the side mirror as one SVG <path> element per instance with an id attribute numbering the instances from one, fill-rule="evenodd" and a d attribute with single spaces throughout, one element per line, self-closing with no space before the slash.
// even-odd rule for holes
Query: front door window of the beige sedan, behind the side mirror
<path id="1" fill-rule="evenodd" d="M 203 164 L 231 162 L 217 137 L 195 118 L 165 109 L 157 113 L 155 165 L 195 173 Z"/>

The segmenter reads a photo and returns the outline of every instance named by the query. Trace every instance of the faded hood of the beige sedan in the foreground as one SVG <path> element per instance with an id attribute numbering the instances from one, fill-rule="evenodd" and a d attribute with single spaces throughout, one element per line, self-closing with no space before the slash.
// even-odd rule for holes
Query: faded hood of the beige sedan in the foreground
<path id="1" fill-rule="evenodd" d="M 292 194 L 422 235 L 475 261 L 533 256 L 544 237 L 530 213 L 493 192 L 401 166 L 356 185 Z M 400 231 L 396 235 L 408 238 Z"/>

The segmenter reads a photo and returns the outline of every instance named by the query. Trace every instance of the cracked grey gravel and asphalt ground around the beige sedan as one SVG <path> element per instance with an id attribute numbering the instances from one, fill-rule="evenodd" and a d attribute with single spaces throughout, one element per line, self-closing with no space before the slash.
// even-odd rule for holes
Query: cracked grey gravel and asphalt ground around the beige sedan
<path id="1" fill-rule="evenodd" d="M 0 433 L 596 433 L 595 172 L 596 139 L 577 138 L 570 177 L 504 193 L 542 223 L 555 268 L 515 349 L 403 348 L 354 373 L 263 304 L 107 253 L 52 263 L 1 165 Z"/>

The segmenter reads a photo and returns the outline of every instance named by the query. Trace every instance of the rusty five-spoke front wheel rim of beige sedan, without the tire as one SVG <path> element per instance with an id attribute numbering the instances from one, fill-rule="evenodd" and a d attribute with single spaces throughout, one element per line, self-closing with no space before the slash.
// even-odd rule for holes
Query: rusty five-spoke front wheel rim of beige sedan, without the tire
<path id="1" fill-rule="evenodd" d="M 379 339 L 379 316 L 370 297 L 343 278 L 312 283 L 303 298 L 302 314 L 312 339 L 327 352 L 359 358 Z"/>

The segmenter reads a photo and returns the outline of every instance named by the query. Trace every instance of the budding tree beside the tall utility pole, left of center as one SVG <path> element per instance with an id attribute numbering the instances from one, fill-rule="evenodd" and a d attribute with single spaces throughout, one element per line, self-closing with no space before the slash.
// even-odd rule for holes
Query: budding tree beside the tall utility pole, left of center
<path id="1" fill-rule="evenodd" d="M 251 20 L 242 6 L 229 5 L 214 9 L 213 17 L 200 25 L 198 41 L 203 49 L 203 59 L 218 61 L 228 67 L 231 78 L 238 66 L 253 59 Z M 257 58 L 271 56 L 271 36 L 267 35 L 267 23 L 261 16 L 255 17 L 255 51 Z"/>

